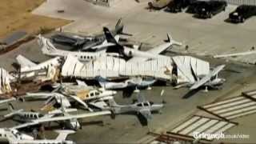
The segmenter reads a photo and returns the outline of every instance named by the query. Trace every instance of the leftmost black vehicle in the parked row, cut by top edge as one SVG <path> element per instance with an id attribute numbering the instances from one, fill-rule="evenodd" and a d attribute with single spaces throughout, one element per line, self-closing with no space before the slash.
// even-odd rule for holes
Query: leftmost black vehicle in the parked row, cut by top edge
<path id="1" fill-rule="evenodd" d="M 166 11 L 172 13 L 182 12 L 187 6 L 190 6 L 195 0 L 174 0 L 167 6 Z"/>

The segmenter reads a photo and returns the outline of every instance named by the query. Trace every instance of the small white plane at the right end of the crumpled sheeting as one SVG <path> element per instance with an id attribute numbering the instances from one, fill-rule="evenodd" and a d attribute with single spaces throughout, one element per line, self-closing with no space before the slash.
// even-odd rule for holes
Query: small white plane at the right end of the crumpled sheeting
<path id="1" fill-rule="evenodd" d="M 209 74 L 203 76 L 202 78 L 196 77 L 195 82 L 193 83 L 184 83 L 178 86 L 175 86 L 176 89 L 182 87 L 182 86 L 190 86 L 190 90 L 196 90 L 201 86 L 206 87 L 206 91 L 208 90 L 208 87 L 212 88 L 218 88 L 216 86 L 222 85 L 224 82 L 226 82 L 225 78 L 218 78 L 218 73 L 223 70 L 225 65 L 220 65 L 214 68 L 214 70 L 210 71 Z"/>

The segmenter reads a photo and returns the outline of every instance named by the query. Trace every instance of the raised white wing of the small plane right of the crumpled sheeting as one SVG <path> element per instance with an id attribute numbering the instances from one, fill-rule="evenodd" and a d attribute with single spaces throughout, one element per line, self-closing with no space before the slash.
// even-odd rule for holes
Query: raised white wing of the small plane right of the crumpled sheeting
<path id="1" fill-rule="evenodd" d="M 204 85 L 206 82 L 210 80 L 214 75 L 218 74 L 219 71 L 221 71 L 225 65 L 217 66 L 213 71 L 210 72 L 210 74 L 206 75 L 202 79 L 200 79 L 198 82 L 195 82 L 193 86 L 190 87 L 190 90 L 198 89 L 198 87 Z"/>

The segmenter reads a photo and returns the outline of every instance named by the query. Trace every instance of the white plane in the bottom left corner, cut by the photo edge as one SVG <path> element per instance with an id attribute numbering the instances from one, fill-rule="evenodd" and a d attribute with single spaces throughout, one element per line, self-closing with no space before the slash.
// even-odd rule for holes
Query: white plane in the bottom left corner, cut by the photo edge
<path id="1" fill-rule="evenodd" d="M 58 133 L 58 137 L 56 139 L 34 139 L 32 136 L 28 134 L 22 134 L 18 130 L 1 128 L 0 129 L 0 139 L 1 141 L 8 141 L 11 144 L 56 144 L 56 143 L 66 143 L 66 144 L 74 144 L 75 142 L 66 140 L 68 134 L 74 134 L 74 130 L 55 130 Z"/>

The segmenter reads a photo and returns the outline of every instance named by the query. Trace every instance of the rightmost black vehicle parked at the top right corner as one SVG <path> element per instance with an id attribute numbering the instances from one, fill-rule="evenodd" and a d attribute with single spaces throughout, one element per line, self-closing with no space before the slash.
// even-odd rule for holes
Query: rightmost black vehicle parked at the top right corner
<path id="1" fill-rule="evenodd" d="M 236 10 L 230 13 L 231 22 L 245 22 L 247 18 L 250 18 L 256 14 L 256 6 L 238 6 Z"/>

